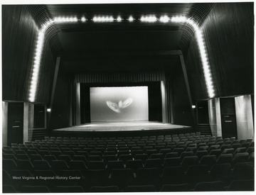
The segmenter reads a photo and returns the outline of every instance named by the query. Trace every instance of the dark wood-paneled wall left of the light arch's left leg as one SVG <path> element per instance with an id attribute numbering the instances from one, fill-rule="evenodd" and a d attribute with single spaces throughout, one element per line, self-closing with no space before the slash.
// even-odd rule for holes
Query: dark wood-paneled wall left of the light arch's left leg
<path id="1" fill-rule="evenodd" d="M 27 100 L 37 32 L 26 6 L 2 6 L 4 100 Z"/>

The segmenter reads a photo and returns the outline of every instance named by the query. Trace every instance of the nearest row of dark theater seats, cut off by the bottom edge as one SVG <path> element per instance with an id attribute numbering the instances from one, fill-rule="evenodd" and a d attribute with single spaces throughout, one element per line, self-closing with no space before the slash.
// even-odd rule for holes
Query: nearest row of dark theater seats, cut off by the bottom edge
<path id="1" fill-rule="evenodd" d="M 230 186 L 225 187 L 223 182 L 201 182 L 198 183 L 194 189 L 189 184 L 166 184 L 161 187 L 160 191 L 253 191 L 254 180 L 235 180 Z M 15 187 L 12 185 L 4 185 L 3 191 L 6 193 L 17 193 Z M 22 192 L 25 193 L 74 193 L 74 192 L 87 192 L 82 186 L 55 186 L 55 189 L 50 190 L 47 186 L 22 186 Z M 126 192 L 146 192 L 156 191 L 155 186 L 127 186 Z M 118 186 L 92 186 L 89 192 L 120 192 Z"/>

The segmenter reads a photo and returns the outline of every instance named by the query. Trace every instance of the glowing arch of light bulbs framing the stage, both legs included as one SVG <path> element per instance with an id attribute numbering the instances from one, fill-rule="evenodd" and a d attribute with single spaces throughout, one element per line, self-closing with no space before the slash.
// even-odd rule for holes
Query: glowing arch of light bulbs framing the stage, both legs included
<path id="1" fill-rule="evenodd" d="M 132 18 L 132 19 L 131 19 Z M 168 16 L 161 16 L 160 18 L 156 18 L 156 16 L 142 16 L 139 19 L 133 18 L 132 16 L 129 16 L 129 18 L 121 18 L 120 16 L 117 16 L 117 18 L 113 18 L 112 16 L 100 16 L 100 17 L 94 17 L 92 18 L 92 21 L 94 22 L 122 22 L 123 20 L 127 20 L 130 22 L 133 21 L 141 21 L 145 23 L 154 23 L 154 22 L 161 22 L 161 23 L 185 23 L 188 26 L 190 26 L 194 33 L 196 34 L 196 42 L 198 45 L 198 50 L 200 52 L 201 56 L 201 63 L 203 67 L 203 75 L 206 82 L 206 89 L 208 92 L 208 97 L 213 98 L 215 96 L 215 89 L 213 85 L 213 77 L 210 70 L 210 64 L 208 61 L 208 54 L 206 52 L 206 45 L 203 38 L 203 32 L 199 28 L 196 21 L 193 20 L 193 18 L 186 18 L 184 16 L 172 16 L 169 18 Z M 45 41 L 45 35 L 47 30 L 52 26 L 54 23 L 85 23 L 87 19 L 85 17 L 77 18 L 77 17 L 56 17 L 53 18 L 53 20 L 49 20 L 41 27 L 40 30 L 38 30 L 38 36 L 36 40 L 36 49 L 35 49 L 35 55 L 33 60 L 33 68 L 32 68 L 32 77 L 31 77 L 31 83 L 30 88 L 28 92 L 28 100 L 31 102 L 34 102 L 36 99 L 37 94 L 37 86 L 38 86 L 38 77 L 41 67 L 41 57 L 43 53 L 43 44 Z"/>

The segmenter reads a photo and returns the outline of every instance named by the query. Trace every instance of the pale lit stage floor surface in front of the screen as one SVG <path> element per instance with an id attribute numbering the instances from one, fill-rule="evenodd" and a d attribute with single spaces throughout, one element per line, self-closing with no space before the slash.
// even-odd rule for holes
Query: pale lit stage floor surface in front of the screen
<path id="1" fill-rule="evenodd" d="M 123 122 L 92 122 L 69 128 L 59 128 L 56 131 L 70 132 L 107 132 L 107 131 L 133 131 L 133 130 L 172 130 L 191 128 L 190 126 L 178 126 L 170 123 L 153 121 L 123 121 Z"/>

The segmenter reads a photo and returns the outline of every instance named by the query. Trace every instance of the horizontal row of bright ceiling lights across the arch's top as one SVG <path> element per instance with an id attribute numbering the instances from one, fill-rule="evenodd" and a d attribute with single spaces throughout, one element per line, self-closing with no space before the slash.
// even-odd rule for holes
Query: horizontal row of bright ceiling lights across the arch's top
<path id="1" fill-rule="evenodd" d="M 142 16 L 141 18 L 134 18 L 132 16 L 129 16 L 129 18 L 121 18 L 121 16 L 117 16 L 117 18 L 114 18 L 113 16 L 94 16 L 91 19 L 87 19 L 85 17 L 82 18 L 77 18 L 77 17 L 56 17 L 53 19 L 55 22 L 58 23 L 66 23 L 66 22 L 86 22 L 86 21 L 94 21 L 94 22 L 122 22 L 122 21 L 142 21 L 142 22 L 149 22 L 149 23 L 154 23 L 154 22 L 162 22 L 162 23 L 167 23 L 171 21 L 171 18 L 168 16 L 161 16 L 160 18 L 156 18 L 156 16 Z"/>

